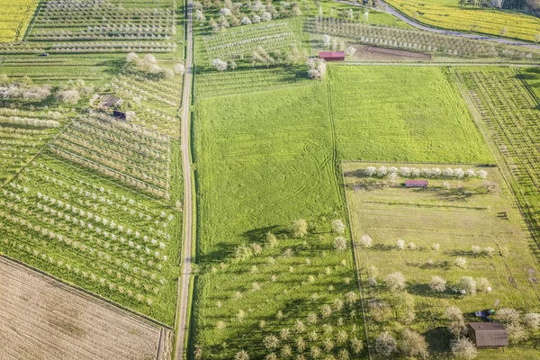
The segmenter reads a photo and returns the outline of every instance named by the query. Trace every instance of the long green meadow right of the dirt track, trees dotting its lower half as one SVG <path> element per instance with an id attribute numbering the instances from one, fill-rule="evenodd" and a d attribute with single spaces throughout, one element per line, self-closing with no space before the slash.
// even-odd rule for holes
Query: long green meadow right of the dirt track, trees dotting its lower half
<path id="1" fill-rule="evenodd" d="M 351 253 L 335 252 L 335 235 L 329 233 L 330 221 L 345 220 L 345 212 L 334 167 L 325 87 L 223 96 L 196 106 L 198 249 L 203 270 L 195 285 L 194 346 L 202 348 L 205 358 L 232 358 L 241 348 L 251 358 L 264 358 L 269 351 L 263 338 L 279 337 L 281 329 L 289 328 L 293 335 L 282 340 L 275 352 L 290 345 L 297 354 L 296 338 L 306 338 L 312 330 L 320 335 L 322 323 L 335 328 L 331 338 L 339 329 L 346 330 L 349 338 L 362 338 L 361 322 L 351 317 L 353 310 L 357 315 L 357 303 L 331 318 L 320 318 L 325 303 L 356 290 Z M 291 239 L 288 228 L 296 219 L 308 220 L 312 235 Z M 268 231 L 279 238 L 278 247 L 234 261 L 239 245 L 264 247 Z M 283 257 L 287 248 L 293 250 L 292 257 Z M 268 257 L 275 257 L 275 266 L 268 265 Z M 277 276 L 275 282 L 271 275 Z M 254 282 L 261 287 L 256 292 Z M 235 297 L 236 292 L 242 293 L 241 298 Z M 319 294 L 318 300 L 311 300 L 313 293 Z M 240 310 L 246 313 L 241 322 Z M 277 311 L 284 312 L 283 320 L 276 320 Z M 307 325 L 311 311 L 319 315 L 318 325 Z M 342 326 L 338 326 L 339 317 Z M 296 319 L 306 324 L 305 333 L 295 334 Z M 266 320 L 264 331 L 258 327 L 260 320 Z M 225 329 L 217 329 L 218 321 L 225 323 Z M 309 346 L 320 346 L 320 341 Z M 347 344 L 337 346 L 332 354 L 347 349 Z"/>

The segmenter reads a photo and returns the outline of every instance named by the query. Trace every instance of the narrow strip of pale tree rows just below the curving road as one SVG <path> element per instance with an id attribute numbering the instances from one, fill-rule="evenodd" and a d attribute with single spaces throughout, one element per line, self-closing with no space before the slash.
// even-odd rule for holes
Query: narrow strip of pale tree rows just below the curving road
<path id="1" fill-rule="evenodd" d="M 466 40 L 428 31 L 389 28 L 349 23 L 335 18 L 318 17 L 307 23 L 308 31 L 355 39 L 365 44 L 396 49 L 411 49 L 459 57 L 536 58 L 536 52 L 524 52 L 509 47 L 496 49 L 486 41 Z"/>

